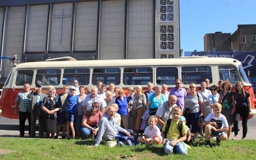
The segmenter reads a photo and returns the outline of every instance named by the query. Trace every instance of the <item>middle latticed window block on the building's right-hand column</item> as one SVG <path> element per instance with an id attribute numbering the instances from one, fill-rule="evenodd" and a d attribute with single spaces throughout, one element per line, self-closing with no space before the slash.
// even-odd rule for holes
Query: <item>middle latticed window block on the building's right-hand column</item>
<path id="1" fill-rule="evenodd" d="M 173 47 L 173 26 L 160 26 L 160 50 L 172 50 Z"/>

